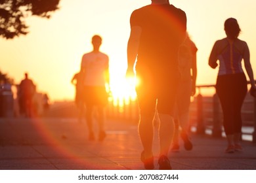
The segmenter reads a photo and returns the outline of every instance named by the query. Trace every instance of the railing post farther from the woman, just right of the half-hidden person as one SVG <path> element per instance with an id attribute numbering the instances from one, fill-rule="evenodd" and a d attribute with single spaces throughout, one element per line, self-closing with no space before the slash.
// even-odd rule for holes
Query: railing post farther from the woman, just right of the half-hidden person
<path id="1" fill-rule="evenodd" d="M 197 96 L 197 115 L 198 125 L 196 127 L 196 133 L 205 134 L 205 126 L 203 124 L 203 96 L 200 93 Z"/>

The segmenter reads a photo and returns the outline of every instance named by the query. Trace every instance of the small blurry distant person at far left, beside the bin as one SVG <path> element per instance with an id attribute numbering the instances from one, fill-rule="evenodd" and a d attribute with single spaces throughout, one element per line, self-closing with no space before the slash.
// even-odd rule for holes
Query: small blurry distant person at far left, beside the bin
<path id="1" fill-rule="evenodd" d="M 35 85 L 25 73 L 25 78 L 20 82 L 20 113 L 26 117 L 32 117 L 33 111 L 33 95 L 35 94 Z"/>

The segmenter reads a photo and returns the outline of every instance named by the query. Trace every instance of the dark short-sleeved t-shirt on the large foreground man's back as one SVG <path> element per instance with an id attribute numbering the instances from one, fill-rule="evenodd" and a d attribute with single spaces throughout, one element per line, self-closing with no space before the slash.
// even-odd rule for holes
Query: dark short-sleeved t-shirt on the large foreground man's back
<path id="1" fill-rule="evenodd" d="M 142 28 L 138 59 L 177 65 L 177 50 L 186 33 L 186 14 L 181 9 L 169 4 L 148 5 L 133 12 L 131 25 Z"/>

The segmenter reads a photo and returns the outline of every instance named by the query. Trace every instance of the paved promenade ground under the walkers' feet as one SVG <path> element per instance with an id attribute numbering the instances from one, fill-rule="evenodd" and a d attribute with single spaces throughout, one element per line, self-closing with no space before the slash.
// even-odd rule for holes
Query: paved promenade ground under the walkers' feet
<path id="1" fill-rule="evenodd" d="M 95 124 L 96 129 L 96 124 Z M 3 170 L 142 170 L 137 124 L 108 120 L 106 139 L 88 141 L 85 122 L 76 119 L 0 119 L 0 169 Z M 157 135 L 154 154 L 159 151 Z M 194 148 L 170 152 L 176 170 L 256 170 L 256 144 L 225 154 L 225 139 L 192 135 Z"/>

